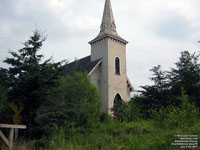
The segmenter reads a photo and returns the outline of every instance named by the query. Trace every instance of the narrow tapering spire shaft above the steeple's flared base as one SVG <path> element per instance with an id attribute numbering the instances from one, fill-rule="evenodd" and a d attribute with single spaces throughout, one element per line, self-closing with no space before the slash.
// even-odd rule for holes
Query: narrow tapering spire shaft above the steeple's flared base
<path id="1" fill-rule="evenodd" d="M 115 25 L 115 20 L 113 17 L 110 0 L 106 0 L 105 2 L 100 32 L 106 32 L 106 31 L 116 32 L 116 25 Z"/>

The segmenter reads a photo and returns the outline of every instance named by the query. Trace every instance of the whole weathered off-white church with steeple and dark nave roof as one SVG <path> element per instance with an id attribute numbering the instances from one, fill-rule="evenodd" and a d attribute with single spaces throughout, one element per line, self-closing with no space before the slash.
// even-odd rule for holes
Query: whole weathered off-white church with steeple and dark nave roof
<path id="1" fill-rule="evenodd" d="M 91 82 L 97 87 L 103 111 L 110 112 L 114 102 L 130 100 L 133 86 L 127 77 L 126 44 L 116 31 L 110 0 L 106 0 L 100 33 L 89 42 L 91 55 L 69 63 L 64 70 L 67 75 L 76 66 L 77 71 L 87 72 Z"/>

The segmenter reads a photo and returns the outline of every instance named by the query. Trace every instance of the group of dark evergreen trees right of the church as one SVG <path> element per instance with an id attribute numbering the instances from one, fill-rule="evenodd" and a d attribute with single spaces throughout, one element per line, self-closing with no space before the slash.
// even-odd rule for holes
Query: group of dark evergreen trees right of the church
<path id="1" fill-rule="evenodd" d="M 162 71 L 158 65 L 151 69 L 153 85 L 143 86 L 141 91 L 140 107 L 143 116 L 149 117 L 151 109 L 160 109 L 167 106 L 180 106 L 181 101 L 177 97 L 183 87 L 189 97 L 189 102 L 200 108 L 200 63 L 199 55 L 181 52 L 176 67 L 170 71 Z"/>

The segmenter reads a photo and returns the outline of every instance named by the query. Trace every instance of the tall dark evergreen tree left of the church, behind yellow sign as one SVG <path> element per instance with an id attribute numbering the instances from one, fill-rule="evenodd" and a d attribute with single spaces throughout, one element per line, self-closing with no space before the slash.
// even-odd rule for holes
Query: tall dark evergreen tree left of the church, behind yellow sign
<path id="1" fill-rule="evenodd" d="M 43 55 L 38 54 L 44 37 L 38 30 L 28 41 L 23 43 L 24 48 L 18 53 L 11 51 L 11 58 L 6 58 L 5 63 L 11 67 L 7 69 L 9 85 L 9 99 L 20 99 L 25 107 L 22 112 L 23 124 L 27 125 L 27 136 L 35 137 L 34 130 L 36 110 L 46 100 L 48 89 L 54 85 L 54 80 L 60 74 L 62 62 L 53 63 L 52 58 L 43 61 Z M 43 62 L 42 62 L 43 61 Z"/>

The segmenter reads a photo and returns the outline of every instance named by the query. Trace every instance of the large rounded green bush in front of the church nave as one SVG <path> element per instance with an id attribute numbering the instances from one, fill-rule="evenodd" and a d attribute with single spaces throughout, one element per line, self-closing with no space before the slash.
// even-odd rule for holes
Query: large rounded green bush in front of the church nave
<path id="1" fill-rule="evenodd" d="M 100 114 L 97 89 L 87 74 L 74 73 L 57 80 L 57 85 L 49 92 L 48 101 L 38 109 L 36 120 L 45 130 L 54 123 L 64 127 L 66 122 L 90 128 L 99 121 Z"/>

